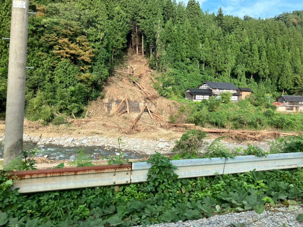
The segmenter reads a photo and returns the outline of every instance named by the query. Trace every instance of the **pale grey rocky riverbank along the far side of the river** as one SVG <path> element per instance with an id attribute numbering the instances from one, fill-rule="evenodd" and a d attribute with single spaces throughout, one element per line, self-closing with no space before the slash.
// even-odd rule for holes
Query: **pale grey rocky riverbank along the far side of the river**
<path id="1" fill-rule="evenodd" d="M 130 137 L 121 137 L 123 144 L 121 145 L 122 151 L 129 150 L 135 151 L 142 154 L 151 155 L 156 151 L 162 154 L 171 153 L 171 150 L 175 146 L 175 140 L 164 140 L 159 138 L 158 140 L 149 140 L 149 139 L 138 139 Z M 0 134 L 0 141 L 4 139 L 4 135 Z M 82 136 L 82 137 L 70 137 L 67 135 L 62 135 L 60 137 L 38 137 L 24 135 L 24 141 L 38 142 L 37 144 L 43 147 L 45 144 L 54 144 L 63 147 L 86 147 L 86 146 L 102 146 L 105 150 L 115 150 L 118 151 L 118 138 L 116 137 L 100 137 L 100 136 Z M 214 139 L 205 139 L 206 143 L 211 143 Z M 247 144 L 254 144 L 264 150 L 269 150 L 268 142 L 231 142 L 231 141 L 222 141 L 223 144 L 228 147 L 230 150 L 234 150 L 235 147 L 247 148 Z M 205 150 L 201 150 L 205 152 Z"/>

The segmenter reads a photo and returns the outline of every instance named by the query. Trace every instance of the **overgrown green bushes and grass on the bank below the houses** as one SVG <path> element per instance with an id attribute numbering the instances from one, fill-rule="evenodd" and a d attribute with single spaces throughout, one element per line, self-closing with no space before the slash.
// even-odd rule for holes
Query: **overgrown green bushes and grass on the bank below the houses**
<path id="1" fill-rule="evenodd" d="M 276 107 L 268 104 L 268 98 L 252 95 L 237 103 L 223 103 L 210 98 L 201 102 L 178 100 L 177 113 L 171 117 L 175 123 L 195 123 L 201 127 L 216 127 L 246 130 L 302 131 L 303 114 L 275 112 Z"/>

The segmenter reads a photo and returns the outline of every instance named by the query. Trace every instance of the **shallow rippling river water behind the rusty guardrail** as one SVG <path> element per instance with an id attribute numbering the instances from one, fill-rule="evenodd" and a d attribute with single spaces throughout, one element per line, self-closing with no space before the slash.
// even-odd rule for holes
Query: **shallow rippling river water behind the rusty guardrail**
<path id="1" fill-rule="evenodd" d="M 23 143 L 23 150 L 28 151 L 32 148 L 37 147 L 39 145 L 34 145 L 33 143 L 30 142 L 25 142 Z M 93 160 L 104 157 L 108 158 L 109 156 L 112 155 L 117 155 L 118 151 L 115 151 L 115 148 L 112 149 L 105 149 L 105 147 L 102 146 L 83 146 L 83 147 L 63 147 L 63 146 L 58 146 L 58 145 L 53 145 L 53 144 L 45 144 L 45 147 L 42 149 L 38 148 L 38 157 L 43 157 L 45 155 L 48 155 L 48 159 L 50 160 L 75 160 L 77 151 L 80 149 L 84 150 L 84 153 L 88 154 Z M 3 158 L 3 145 L 0 143 L 0 158 Z M 148 157 L 148 155 L 141 154 L 139 152 L 135 151 L 129 151 L 125 150 L 123 151 L 123 157 L 124 158 L 129 158 L 129 159 L 141 159 Z"/>

